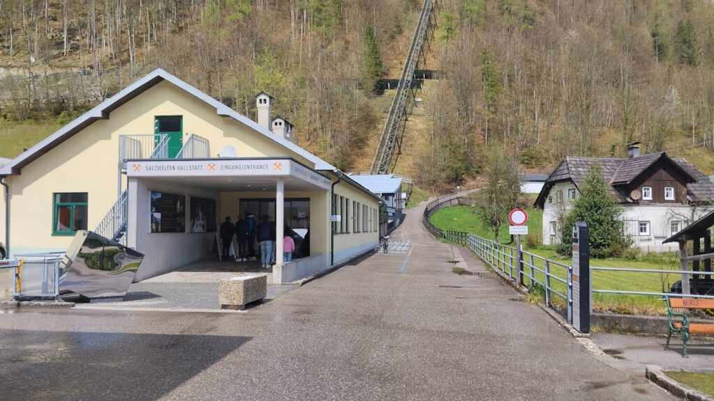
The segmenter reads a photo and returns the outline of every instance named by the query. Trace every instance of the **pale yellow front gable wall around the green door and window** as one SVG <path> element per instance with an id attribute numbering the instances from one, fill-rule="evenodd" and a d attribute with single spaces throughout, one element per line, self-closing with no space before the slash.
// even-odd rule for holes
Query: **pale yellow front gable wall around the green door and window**
<path id="1" fill-rule="evenodd" d="M 183 131 L 208 139 L 211 156 L 223 146 L 236 147 L 236 157 L 291 156 L 312 164 L 233 118 L 216 115 L 215 108 L 173 84 L 162 81 L 112 111 L 9 176 L 11 186 L 11 245 L 18 248 L 63 249 L 69 236 L 52 234 L 52 193 L 89 193 L 89 229 L 114 204 L 117 193 L 119 136 L 154 133 L 155 116 L 183 116 Z M 125 181 L 126 182 L 126 181 Z M 4 212 L 3 212 L 4 213 Z M 2 214 L 2 213 L 0 213 Z"/>

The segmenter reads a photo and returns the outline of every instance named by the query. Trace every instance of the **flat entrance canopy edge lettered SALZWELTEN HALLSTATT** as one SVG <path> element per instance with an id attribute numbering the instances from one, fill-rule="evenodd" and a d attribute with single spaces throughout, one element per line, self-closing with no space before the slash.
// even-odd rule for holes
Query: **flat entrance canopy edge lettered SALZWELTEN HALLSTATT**
<path id="1" fill-rule="evenodd" d="M 274 189 L 277 178 L 286 191 L 326 191 L 332 184 L 293 158 L 136 159 L 126 161 L 126 176 L 231 191 Z"/>

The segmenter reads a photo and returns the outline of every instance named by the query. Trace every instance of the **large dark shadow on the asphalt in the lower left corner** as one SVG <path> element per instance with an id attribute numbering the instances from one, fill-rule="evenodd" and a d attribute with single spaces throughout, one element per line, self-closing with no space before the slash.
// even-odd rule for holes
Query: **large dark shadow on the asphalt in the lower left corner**
<path id="1" fill-rule="evenodd" d="M 156 400 L 250 337 L 2 330 L 4 400 Z"/>

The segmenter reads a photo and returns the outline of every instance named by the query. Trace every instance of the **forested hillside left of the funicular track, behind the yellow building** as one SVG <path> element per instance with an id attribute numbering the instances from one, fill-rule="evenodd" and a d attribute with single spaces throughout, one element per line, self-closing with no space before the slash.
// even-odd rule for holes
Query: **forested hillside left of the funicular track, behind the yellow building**
<path id="1" fill-rule="evenodd" d="M 253 96 L 270 93 L 301 146 L 349 168 L 360 154 L 354 149 L 371 157 L 364 142 L 381 124 L 371 93 L 390 66 L 398 70 L 420 7 L 418 0 L 0 0 L 2 116 L 74 115 L 161 66 L 251 117 Z"/>

